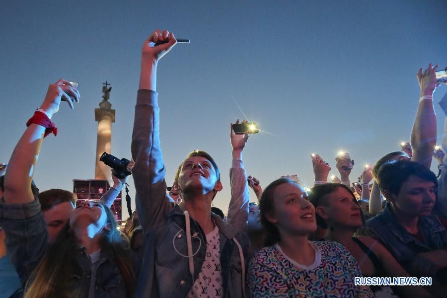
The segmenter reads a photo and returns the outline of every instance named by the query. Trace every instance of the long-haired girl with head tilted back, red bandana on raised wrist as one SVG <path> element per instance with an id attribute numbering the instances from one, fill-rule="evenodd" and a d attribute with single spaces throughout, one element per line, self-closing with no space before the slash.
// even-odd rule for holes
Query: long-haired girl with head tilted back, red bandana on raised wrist
<path id="1" fill-rule="evenodd" d="M 69 81 L 50 84 L 41 108 L 27 122 L 4 180 L 0 202 L 6 247 L 25 298 L 132 297 L 134 265 L 115 218 L 103 203 L 83 201 L 53 243 L 49 243 L 39 200 L 31 192 L 42 140 L 57 134 L 51 116 L 61 100 L 74 108 L 79 92 Z"/>

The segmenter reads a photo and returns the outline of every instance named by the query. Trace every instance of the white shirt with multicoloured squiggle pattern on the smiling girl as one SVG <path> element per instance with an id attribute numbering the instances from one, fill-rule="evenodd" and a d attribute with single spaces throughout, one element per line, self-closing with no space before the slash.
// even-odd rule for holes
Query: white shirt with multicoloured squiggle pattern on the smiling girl
<path id="1" fill-rule="evenodd" d="M 315 261 L 309 266 L 287 257 L 278 245 L 264 247 L 251 260 L 248 284 L 252 297 L 374 297 L 368 286 L 355 286 L 360 268 L 341 244 L 309 241 Z"/>

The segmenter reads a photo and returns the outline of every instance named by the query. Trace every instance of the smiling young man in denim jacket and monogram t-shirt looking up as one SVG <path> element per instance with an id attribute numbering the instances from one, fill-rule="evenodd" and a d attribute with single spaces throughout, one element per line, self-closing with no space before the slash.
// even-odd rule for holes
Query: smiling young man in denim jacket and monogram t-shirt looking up
<path id="1" fill-rule="evenodd" d="M 156 69 L 159 59 L 175 44 L 172 33 L 157 30 L 142 49 L 132 156 L 137 211 L 145 245 L 135 295 L 244 297 L 245 266 L 251 256 L 248 239 L 211 213 L 212 201 L 222 190 L 214 159 L 204 151 L 189 153 L 178 176 L 182 204 L 173 203 L 166 195 Z M 233 158 L 237 158 L 235 155 Z M 248 202 L 246 208 L 245 214 Z"/>

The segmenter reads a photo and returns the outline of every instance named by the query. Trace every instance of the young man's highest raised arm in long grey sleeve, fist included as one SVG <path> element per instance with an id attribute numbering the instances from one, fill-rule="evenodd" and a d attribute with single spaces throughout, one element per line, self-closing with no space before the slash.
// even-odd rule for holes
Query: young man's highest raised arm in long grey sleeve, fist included
<path id="1" fill-rule="evenodd" d="M 156 45 L 158 42 L 165 43 Z M 140 88 L 132 133 L 132 157 L 135 160 L 132 173 L 137 191 L 137 212 L 145 231 L 163 221 L 171 207 L 166 198 L 155 91 L 158 61 L 176 43 L 172 33 L 166 30 L 154 31 L 144 43 L 141 55 Z"/>

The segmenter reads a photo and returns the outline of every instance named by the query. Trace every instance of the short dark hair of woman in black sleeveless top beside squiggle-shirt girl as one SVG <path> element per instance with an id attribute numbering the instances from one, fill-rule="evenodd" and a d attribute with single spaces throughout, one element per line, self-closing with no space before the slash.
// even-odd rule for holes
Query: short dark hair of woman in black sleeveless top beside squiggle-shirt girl
<path id="1" fill-rule="evenodd" d="M 337 189 L 339 189 L 340 187 L 346 189 L 352 195 L 353 199 L 357 202 L 356 196 L 352 192 L 351 188 L 340 183 L 325 183 L 315 185 L 309 191 L 309 201 L 315 208 L 317 208 L 318 206 L 329 206 L 327 196 L 333 192 L 336 192 Z M 359 203 L 357 202 L 357 204 Z M 318 226 L 327 228 L 326 222 L 320 217 L 317 212 L 315 212 L 315 218 Z"/>

